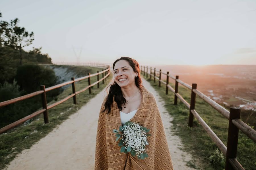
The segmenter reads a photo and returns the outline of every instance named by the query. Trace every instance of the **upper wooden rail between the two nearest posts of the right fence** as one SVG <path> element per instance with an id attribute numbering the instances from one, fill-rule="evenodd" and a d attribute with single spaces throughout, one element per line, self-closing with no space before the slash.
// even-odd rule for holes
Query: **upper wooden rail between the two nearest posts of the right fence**
<path id="1" fill-rule="evenodd" d="M 226 110 L 224 107 L 210 99 L 207 95 L 203 94 L 197 89 L 193 89 L 193 92 L 197 94 L 199 97 L 201 97 L 204 101 L 206 101 L 209 105 L 211 105 L 214 109 L 216 109 L 218 112 L 220 112 L 225 118 L 229 120 L 229 111 Z"/>

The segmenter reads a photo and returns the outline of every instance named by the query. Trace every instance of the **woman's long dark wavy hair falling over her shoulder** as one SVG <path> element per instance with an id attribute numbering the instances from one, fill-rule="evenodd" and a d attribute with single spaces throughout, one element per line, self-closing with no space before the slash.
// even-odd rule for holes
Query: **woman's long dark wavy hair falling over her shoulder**
<path id="1" fill-rule="evenodd" d="M 115 62 L 113 63 L 113 70 L 114 70 L 114 67 L 115 67 L 115 63 L 119 60 L 122 60 L 122 59 L 128 61 L 129 65 L 133 68 L 133 71 L 138 73 L 138 76 L 135 77 L 135 85 L 138 88 L 141 88 L 142 87 L 142 85 L 141 85 L 142 80 L 141 80 L 141 74 L 140 74 L 141 71 L 140 71 L 139 63 L 135 59 L 132 59 L 132 58 L 129 58 L 129 57 L 121 57 L 121 58 L 115 60 Z M 109 93 L 108 93 L 108 96 L 107 96 L 107 101 L 104 105 L 105 106 L 104 111 L 106 109 L 108 109 L 107 114 L 109 114 L 109 112 L 111 110 L 111 105 L 113 103 L 113 96 L 114 96 L 115 102 L 117 103 L 117 107 L 118 107 L 119 111 L 123 110 L 122 105 L 124 107 L 126 105 L 126 100 L 123 97 L 120 86 L 115 81 L 114 81 L 113 84 L 110 84 L 109 86 L 110 86 L 110 90 L 109 90 Z M 102 111 L 102 112 L 104 112 L 104 111 Z"/>

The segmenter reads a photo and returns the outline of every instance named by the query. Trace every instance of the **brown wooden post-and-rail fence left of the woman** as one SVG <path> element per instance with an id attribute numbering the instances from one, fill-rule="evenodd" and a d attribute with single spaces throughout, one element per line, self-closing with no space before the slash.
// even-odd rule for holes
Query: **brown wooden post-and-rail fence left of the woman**
<path id="1" fill-rule="evenodd" d="M 59 63 L 60 64 L 60 63 Z M 65 63 L 67 65 L 73 65 L 73 63 Z M 85 66 L 86 64 L 85 63 L 82 63 L 84 64 L 83 66 Z M 82 65 L 81 64 L 81 65 Z M 90 65 L 88 64 L 88 66 L 94 66 L 94 67 L 97 67 L 97 65 Z M 41 113 L 44 113 L 44 123 L 48 123 L 49 120 L 48 120 L 48 110 L 63 103 L 64 101 L 68 100 L 69 98 L 73 97 L 73 103 L 74 104 L 77 104 L 77 99 L 76 99 L 76 95 L 89 89 L 89 94 L 91 94 L 91 87 L 96 85 L 97 84 L 97 87 L 99 88 L 100 87 L 100 82 L 102 81 L 103 84 L 104 84 L 104 79 L 107 78 L 109 75 L 110 75 L 110 66 L 109 65 L 99 65 L 98 67 L 100 68 L 105 68 L 104 70 L 102 71 L 97 71 L 97 73 L 94 73 L 94 74 L 90 74 L 88 73 L 87 76 L 84 76 L 84 77 L 80 77 L 80 78 L 74 78 L 72 77 L 71 78 L 71 81 L 67 81 L 67 82 L 63 82 L 61 84 L 57 84 L 55 86 L 51 86 L 51 87 L 48 87 L 48 88 L 45 88 L 44 85 L 41 85 L 40 86 L 40 90 L 39 91 L 36 91 L 36 92 L 33 92 L 33 93 L 30 93 L 30 94 L 26 94 L 26 95 L 23 95 L 23 96 L 20 96 L 20 97 L 16 97 L 14 99 L 11 99 L 11 100 L 7 100 L 7 101 L 3 101 L 0 103 L 0 107 L 4 107 L 6 105 L 10 105 L 12 103 L 16 103 L 17 101 L 21 101 L 21 100 L 24 100 L 24 99 L 28 99 L 30 97 L 34 97 L 36 95 L 39 95 L 41 94 L 41 98 L 42 98 L 42 106 L 43 108 L 24 117 L 24 118 L 21 118 L 20 120 L 17 120 L 16 122 L 13 122 L 3 128 L 0 129 L 0 134 L 2 134 L 3 132 L 11 129 L 11 128 L 14 128 L 15 126 L 35 117 L 36 115 L 38 114 L 41 114 Z M 105 74 L 105 75 L 104 75 Z M 102 75 L 102 78 L 100 79 L 100 75 Z M 94 82 L 93 84 L 91 84 L 91 80 L 90 78 L 93 77 L 93 76 L 97 76 L 97 80 L 96 82 Z M 81 81 L 81 80 L 85 80 L 85 79 L 88 79 L 88 86 L 86 86 L 85 88 L 79 90 L 78 92 L 76 92 L 75 90 L 75 82 L 78 82 L 78 81 Z M 65 86 L 65 85 L 68 85 L 68 84 L 72 84 L 72 91 L 73 91 L 73 94 L 71 95 L 68 95 L 67 97 L 65 97 L 64 99 L 61 99 L 60 101 L 57 101 L 51 105 L 47 105 L 47 101 L 46 101 L 46 92 L 49 92 L 53 89 L 56 89 L 56 88 L 60 88 L 62 86 Z"/>

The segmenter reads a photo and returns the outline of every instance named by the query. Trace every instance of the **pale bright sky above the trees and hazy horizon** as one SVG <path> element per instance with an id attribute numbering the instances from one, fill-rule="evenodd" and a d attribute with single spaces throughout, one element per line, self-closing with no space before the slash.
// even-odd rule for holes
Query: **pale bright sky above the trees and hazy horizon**
<path id="1" fill-rule="evenodd" d="M 54 62 L 256 65 L 255 0 L 1 0 L 0 11 L 34 32 L 25 50 Z"/>

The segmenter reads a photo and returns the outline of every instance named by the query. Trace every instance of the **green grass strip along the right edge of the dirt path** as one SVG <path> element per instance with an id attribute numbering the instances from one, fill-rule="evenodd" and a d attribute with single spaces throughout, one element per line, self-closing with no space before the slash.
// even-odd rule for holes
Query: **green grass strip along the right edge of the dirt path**
<path id="1" fill-rule="evenodd" d="M 150 80 L 146 76 L 144 77 L 164 99 L 167 111 L 174 117 L 172 131 L 181 138 L 184 145 L 183 150 L 192 154 L 193 161 L 187 162 L 187 166 L 205 170 L 224 169 L 225 158 L 222 154 L 216 152 L 218 147 L 199 122 L 194 118 L 193 127 L 188 127 L 189 109 L 179 99 L 177 105 L 174 105 L 174 94 L 169 90 L 168 95 L 166 95 L 166 86 L 161 83 L 159 88 L 157 79 L 154 83 L 153 78 Z M 174 88 L 175 84 L 170 85 Z M 178 91 L 190 103 L 191 90 L 179 84 Z M 228 120 L 198 96 L 196 96 L 195 110 L 224 145 L 227 145 Z M 237 160 L 246 170 L 255 170 L 255 153 L 255 143 L 239 131 Z"/>

